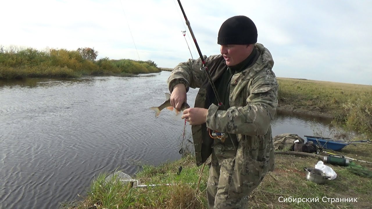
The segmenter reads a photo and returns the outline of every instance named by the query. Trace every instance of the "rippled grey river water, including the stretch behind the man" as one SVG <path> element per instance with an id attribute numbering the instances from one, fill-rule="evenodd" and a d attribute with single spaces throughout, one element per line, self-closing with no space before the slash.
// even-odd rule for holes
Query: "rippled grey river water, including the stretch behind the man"
<path id="1" fill-rule="evenodd" d="M 170 72 L 138 77 L 0 81 L 0 209 L 58 208 L 94 177 L 180 158 L 184 120 L 149 107 L 165 100 Z M 187 102 L 194 105 L 197 89 Z M 273 136 L 304 138 L 328 122 L 278 115 Z M 191 128 L 187 124 L 186 132 Z"/>

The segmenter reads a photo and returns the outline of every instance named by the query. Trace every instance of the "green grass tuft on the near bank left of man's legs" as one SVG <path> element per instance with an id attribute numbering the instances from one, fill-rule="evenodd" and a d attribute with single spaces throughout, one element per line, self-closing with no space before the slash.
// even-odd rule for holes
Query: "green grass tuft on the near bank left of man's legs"
<path id="1" fill-rule="evenodd" d="M 178 167 L 183 170 L 177 175 Z M 107 174 L 101 174 L 92 183 L 87 198 L 74 208 L 205 208 L 206 199 L 196 191 L 201 167 L 193 166 L 192 155 L 186 155 L 174 162 L 167 162 L 154 167 L 143 165 L 143 170 L 136 179 L 144 184 L 172 184 L 170 186 L 155 186 L 131 188 L 129 184 L 116 181 L 105 183 Z M 203 182 L 208 178 L 208 169 L 203 172 Z M 202 184 L 199 189 L 205 190 Z"/>

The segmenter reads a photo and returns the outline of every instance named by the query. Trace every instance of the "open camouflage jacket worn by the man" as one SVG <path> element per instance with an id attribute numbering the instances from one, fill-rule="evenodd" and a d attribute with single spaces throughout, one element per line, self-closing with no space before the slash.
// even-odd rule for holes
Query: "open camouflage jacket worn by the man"
<path id="1" fill-rule="evenodd" d="M 270 122 L 273 120 L 278 105 L 278 83 L 272 71 L 274 61 L 262 44 L 255 47 L 259 57 L 250 67 L 232 76 L 230 82 L 230 108 L 219 110 L 212 104 L 208 108 L 206 123 L 193 125 L 192 135 L 195 146 L 196 165 L 202 165 L 210 154 L 210 147 L 203 146 L 203 136 L 208 136 L 206 127 L 219 132 L 236 134 L 239 147 L 247 147 L 243 155 L 264 161 L 269 170 L 274 169 L 274 145 Z M 226 68 L 222 55 L 204 56 L 209 71 Z M 195 107 L 204 108 L 206 89 L 201 88 L 208 79 L 200 58 L 182 62 L 171 72 L 167 80 L 169 91 L 176 84 L 183 83 L 189 88 L 200 88 L 195 99 Z M 217 139 L 218 140 L 218 139 Z M 203 154 L 204 153 L 204 154 Z M 207 153 L 207 154 L 205 154 Z"/>

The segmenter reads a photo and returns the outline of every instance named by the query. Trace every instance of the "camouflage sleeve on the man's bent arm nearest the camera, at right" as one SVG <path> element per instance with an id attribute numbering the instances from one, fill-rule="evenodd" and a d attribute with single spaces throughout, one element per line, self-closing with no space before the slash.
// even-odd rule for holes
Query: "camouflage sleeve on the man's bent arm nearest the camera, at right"
<path id="1" fill-rule="evenodd" d="M 275 74 L 270 69 L 259 73 L 253 78 L 249 92 L 246 106 L 218 110 L 212 104 L 207 113 L 207 127 L 231 134 L 265 135 L 278 106 Z"/>

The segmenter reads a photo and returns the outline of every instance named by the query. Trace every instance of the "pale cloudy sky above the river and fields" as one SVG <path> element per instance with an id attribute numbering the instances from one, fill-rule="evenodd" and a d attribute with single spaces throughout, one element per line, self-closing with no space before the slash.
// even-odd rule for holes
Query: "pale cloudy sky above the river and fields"
<path id="1" fill-rule="evenodd" d="M 181 3 L 203 55 L 219 54 L 221 24 L 245 15 L 277 77 L 372 85 L 371 0 Z M 97 59 L 152 60 L 165 68 L 199 58 L 176 0 L 12 0 L 0 1 L 0 11 L 4 48 L 90 47 Z"/>

